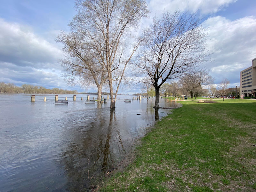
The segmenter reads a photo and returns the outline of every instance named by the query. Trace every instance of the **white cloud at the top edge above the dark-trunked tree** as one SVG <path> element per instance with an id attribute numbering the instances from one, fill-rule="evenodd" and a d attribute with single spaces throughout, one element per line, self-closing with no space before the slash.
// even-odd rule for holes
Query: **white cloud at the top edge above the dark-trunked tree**
<path id="1" fill-rule="evenodd" d="M 189 10 L 199 12 L 203 15 L 218 12 L 220 9 L 227 7 L 230 3 L 237 0 L 151 0 L 149 8 L 153 14 L 162 12 L 163 10 L 174 12 L 179 9 L 181 11 Z"/>

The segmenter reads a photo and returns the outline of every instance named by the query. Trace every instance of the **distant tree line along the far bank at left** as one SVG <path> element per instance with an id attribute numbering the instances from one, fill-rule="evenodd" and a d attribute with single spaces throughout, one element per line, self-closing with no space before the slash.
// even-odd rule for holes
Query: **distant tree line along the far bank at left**
<path id="1" fill-rule="evenodd" d="M 46 89 L 43 86 L 23 84 L 20 87 L 12 83 L 0 83 L 0 93 L 25 93 L 25 94 L 77 94 L 76 90 L 64 90 L 59 88 Z"/>

